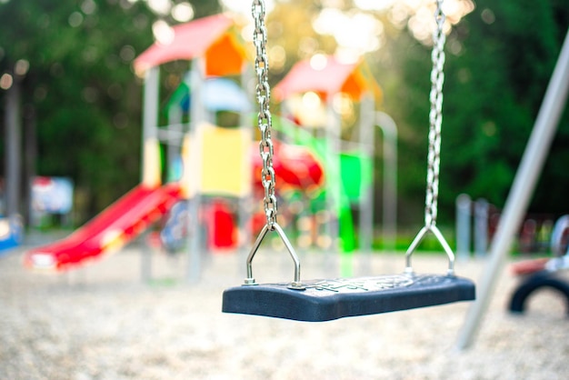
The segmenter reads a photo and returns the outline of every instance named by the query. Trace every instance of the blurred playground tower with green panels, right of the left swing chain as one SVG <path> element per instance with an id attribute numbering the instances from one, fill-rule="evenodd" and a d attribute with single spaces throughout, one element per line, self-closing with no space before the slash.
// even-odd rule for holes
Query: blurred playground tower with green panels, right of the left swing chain
<path id="1" fill-rule="evenodd" d="M 374 235 L 374 125 L 375 105 L 381 97 L 363 60 L 345 64 L 333 56 L 314 55 L 293 66 L 275 86 L 285 117 L 297 120 L 293 130 L 278 123 L 284 140 L 311 146 L 325 162 L 324 192 L 320 203 L 324 220 L 324 249 L 354 250 L 352 208 L 359 211 L 360 250 L 370 251 Z M 359 112 L 355 108 L 359 106 Z M 344 109 L 343 109 L 344 108 Z M 358 120 L 346 123 L 345 108 Z M 357 114 L 357 115 L 356 115 Z M 318 208 L 318 206 L 316 206 Z"/>

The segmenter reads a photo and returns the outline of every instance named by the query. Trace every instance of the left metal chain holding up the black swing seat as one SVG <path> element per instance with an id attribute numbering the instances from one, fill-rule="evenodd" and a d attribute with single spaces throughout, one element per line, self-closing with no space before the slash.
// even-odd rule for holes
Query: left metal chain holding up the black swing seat
<path id="1" fill-rule="evenodd" d="M 265 189 L 263 204 L 265 206 L 266 225 L 270 230 L 275 229 L 278 207 L 275 195 L 275 169 L 273 168 L 273 154 L 275 151 L 271 140 L 272 117 L 269 109 L 271 101 L 271 87 L 269 85 L 269 59 L 266 53 L 266 27 L 265 27 L 265 1 L 254 0 L 252 14 L 255 19 L 255 32 L 253 42 L 255 45 L 255 73 L 257 75 L 256 97 L 259 105 L 257 126 L 261 131 L 259 153 L 263 159 L 261 183 Z"/>

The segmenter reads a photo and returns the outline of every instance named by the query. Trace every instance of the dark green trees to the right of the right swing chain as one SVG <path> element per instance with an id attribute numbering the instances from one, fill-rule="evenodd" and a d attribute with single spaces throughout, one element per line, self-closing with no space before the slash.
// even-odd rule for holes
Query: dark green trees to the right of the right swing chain
<path id="1" fill-rule="evenodd" d="M 504 206 L 568 27 L 563 0 L 478 0 L 455 28 L 444 115 L 448 201 L 468 192 Z M 565 112 L 530 212 L 569 211 L 567 145 Z"/>

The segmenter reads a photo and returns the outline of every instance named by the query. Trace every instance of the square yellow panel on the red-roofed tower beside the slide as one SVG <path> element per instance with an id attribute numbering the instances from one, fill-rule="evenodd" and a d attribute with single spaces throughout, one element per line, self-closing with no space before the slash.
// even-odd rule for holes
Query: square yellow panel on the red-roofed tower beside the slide
<path id="1" fill-rule="evenodd" d="M 251 131 L 200 125 L 201 186 L 207 195 L 245 196 L 251 191 Z"/>

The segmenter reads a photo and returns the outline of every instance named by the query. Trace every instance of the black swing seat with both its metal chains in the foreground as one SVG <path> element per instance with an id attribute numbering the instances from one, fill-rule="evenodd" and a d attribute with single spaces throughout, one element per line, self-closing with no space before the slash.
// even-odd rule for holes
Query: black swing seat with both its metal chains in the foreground
<path id="1" fill-rule="evenodd" d="M 246 258 L 245 284 L 226 289 L 224 292 L 223 312 L 322 322 L 348 316 L 374 315 L 474 300 L 474 283 L 454 274 L 454 253 L 436 226 L 443 121 L 445 15 L 442 5 L 443 0 L 436 0 L 424 226 L 407 249 L 404 273 L 303 281 L 300 275 L 300 260 L 276 218 L 278 207 L 273 167 L 275 151 L 271 139 L 272 116 L 269 110 L 271 88 L 268 83 L 265 1 L 253 1 L 256 98 L 259 105 L 257 126 L 261 132 L 259 153 L 263 159 L 262 185 L 265 190 L 263 204 L 266 223 Z M 253 259 L 269 232 L 279 235 L 293 259 L 294 279 L 290 283 L 258 284 L 255 281 Z M 424 275 L 414 272 L 412 256 L 425 235 L 429 233 L 434 235 L 448 257 L 448 268 L 444 275 Z"/>

